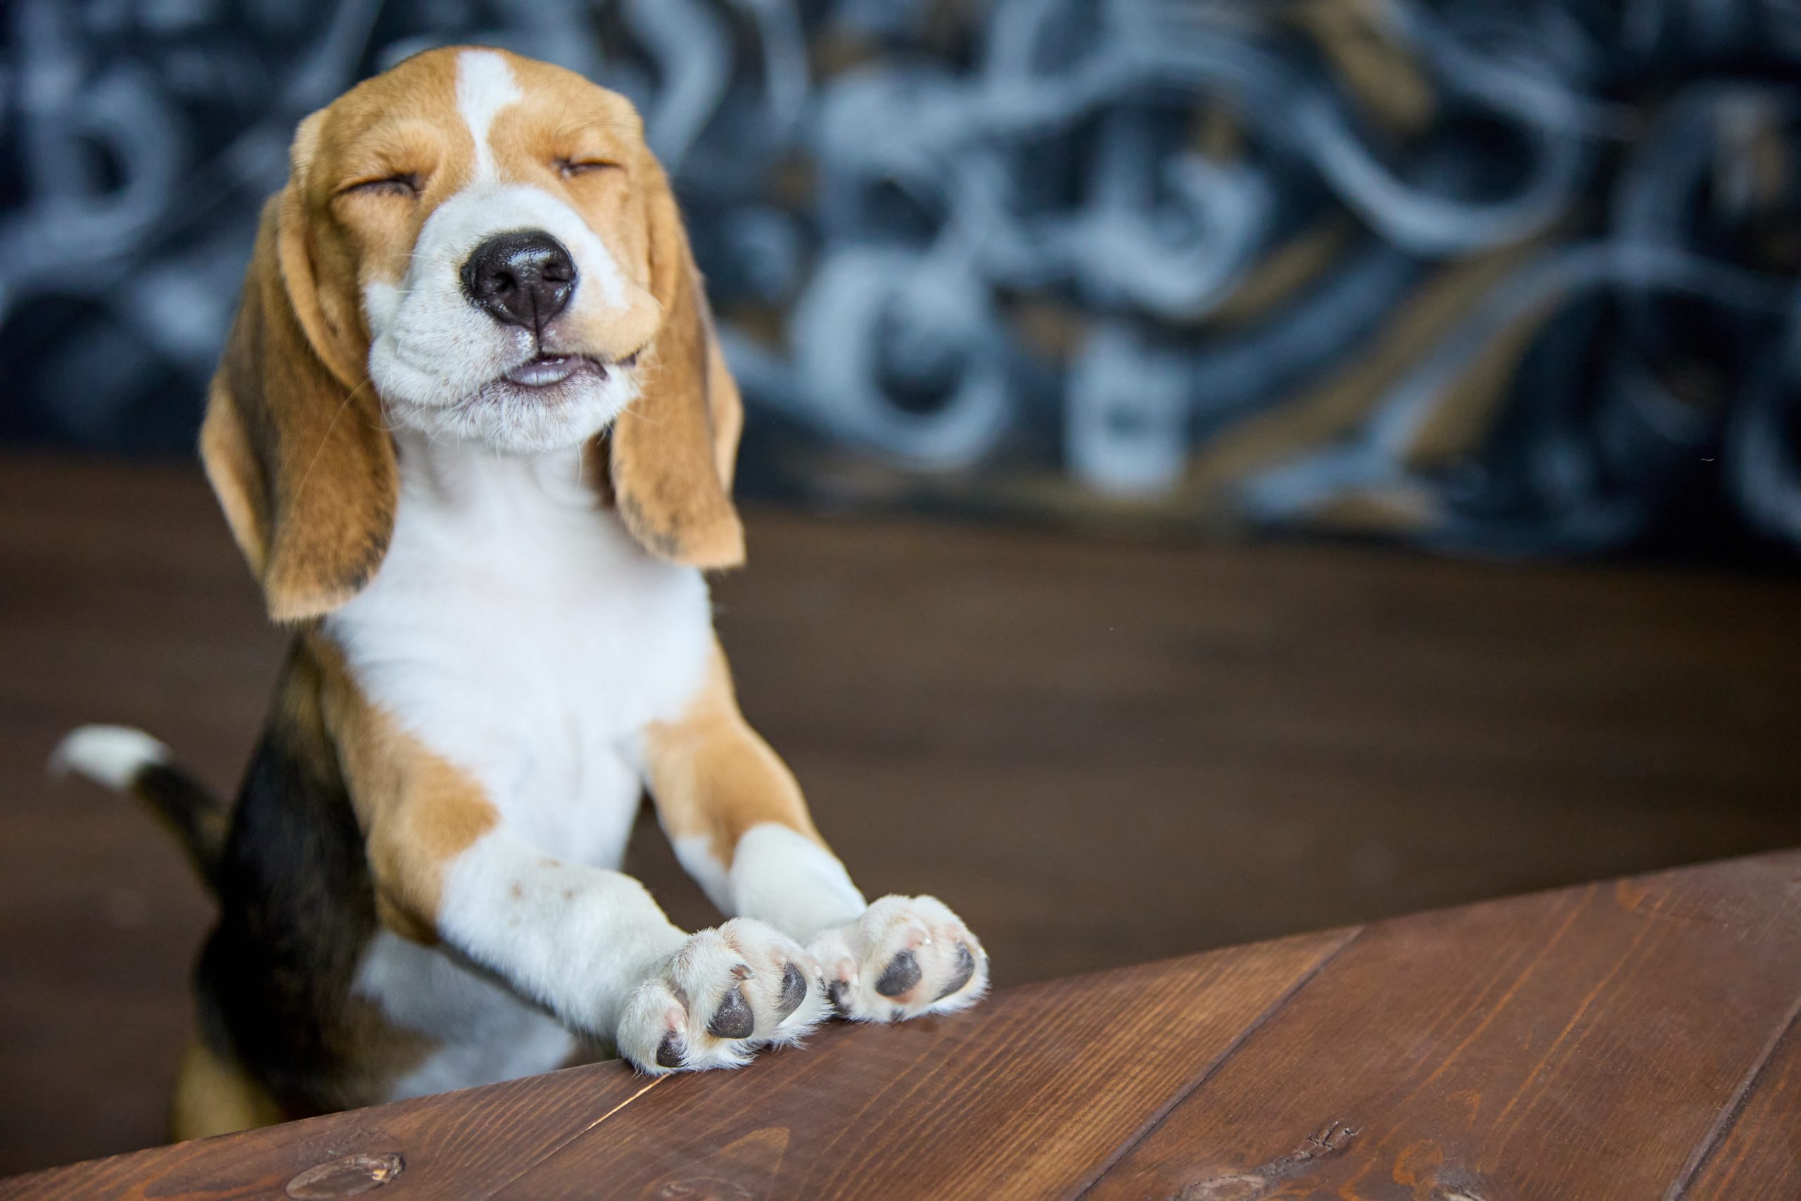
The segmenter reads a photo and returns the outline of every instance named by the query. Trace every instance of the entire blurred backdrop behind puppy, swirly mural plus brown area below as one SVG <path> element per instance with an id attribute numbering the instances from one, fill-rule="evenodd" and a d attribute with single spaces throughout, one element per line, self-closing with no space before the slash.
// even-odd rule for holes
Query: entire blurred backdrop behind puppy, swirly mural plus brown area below
<path id="1" fill-rule="evenodd" d="M 1801 843 L 1785 0 L 5 0 L 0 1172 L 160 1138 L 283 654 L 193 465 L 294 124 L 632 95 L 749 402 L 749 718 L 1001 987 Z M 713 918 L 652 825 L 629 866 Z"/>

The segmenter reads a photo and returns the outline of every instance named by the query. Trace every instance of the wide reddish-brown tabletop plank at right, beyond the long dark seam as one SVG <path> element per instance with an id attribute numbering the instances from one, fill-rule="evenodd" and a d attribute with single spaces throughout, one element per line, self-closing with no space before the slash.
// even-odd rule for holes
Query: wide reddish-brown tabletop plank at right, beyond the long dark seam
<path id="1" fill-rule="evenodd" d="M 1369 927 L 1090 1196 L 1661 1197 L 1747 1102 L 1715 1172 L 1792 1174 L 1790 1055 L 1745 1082 L 1801 998 L 1797 882 L 1781 853 Z"/>

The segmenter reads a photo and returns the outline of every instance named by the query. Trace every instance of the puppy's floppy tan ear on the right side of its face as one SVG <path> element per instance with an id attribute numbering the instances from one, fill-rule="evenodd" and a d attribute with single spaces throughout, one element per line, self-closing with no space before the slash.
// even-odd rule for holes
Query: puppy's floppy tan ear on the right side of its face
<path id="1" fill-rule="evenodd" d="M 744 526 L 729 488 L 744 407 L 668 178 L 648 151 L 643 160 L 650 292 L 663 324 L 645 351 L 638 400 L 612 423 L 612 492 L 625 528 L 652 555 L 737 567 Z"/>

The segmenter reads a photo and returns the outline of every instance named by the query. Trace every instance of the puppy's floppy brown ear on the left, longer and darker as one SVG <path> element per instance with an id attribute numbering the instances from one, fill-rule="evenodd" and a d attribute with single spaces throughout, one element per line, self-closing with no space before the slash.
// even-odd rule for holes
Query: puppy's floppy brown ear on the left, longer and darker
<path id="1" fill-rule="evenodd" d="M 301 178 L 263 205 L 243 303 L 207 396 L 200 457 L 276 621 L 331 612 L 367 583 L 394 529 L 398 470 L 344 315 L 321 306 Z"/>

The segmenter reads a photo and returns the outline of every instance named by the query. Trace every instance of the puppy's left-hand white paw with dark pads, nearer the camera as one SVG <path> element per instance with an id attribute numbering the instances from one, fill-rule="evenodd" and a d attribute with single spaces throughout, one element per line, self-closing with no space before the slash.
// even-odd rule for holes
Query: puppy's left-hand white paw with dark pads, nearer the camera
<path id="1" fill-rule="evenodd" d="M 650 1075 L 740 1068 L 827 1014 L 818 960 L 762 922 L 733 918 L 690 935 L 638 985 L 616 1044 Z"/>

